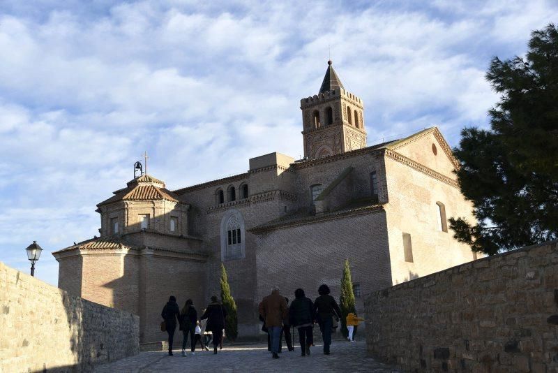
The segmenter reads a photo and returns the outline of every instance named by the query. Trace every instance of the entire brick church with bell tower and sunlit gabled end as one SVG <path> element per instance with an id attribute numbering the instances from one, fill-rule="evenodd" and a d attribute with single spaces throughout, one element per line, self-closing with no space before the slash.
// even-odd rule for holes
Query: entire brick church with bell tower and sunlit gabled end
<path id="1" fill-rule="evenodd" d="M 436 127 L 368 146 L 363 101 L 331 61 L 301 110 L 301 160 L 270 153 L 203 184 L 171 191 L 142 175 L 114 191 L 97 205 L 100 237 L 53 253 L 59 287 L 139 315 L 141 342 L 153 342 L 166 338 L 158 324 L 169 295 L 202 312 L 220 293 L 223 263 L 239 338 L 250 338 L 272 285 L 315 298 L 328 284 L 338 298 L 347 258 L 359 311 L 362 294 L 476 258 L 448 231 L 449 217 L 474 217 Z"/>

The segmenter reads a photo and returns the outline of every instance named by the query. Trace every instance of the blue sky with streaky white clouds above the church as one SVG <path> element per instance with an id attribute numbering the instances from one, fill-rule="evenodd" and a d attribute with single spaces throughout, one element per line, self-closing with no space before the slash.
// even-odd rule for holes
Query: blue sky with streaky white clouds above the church
<path id="1" fill-rule="evenodd" d="M 489 126 L 484 75 L 525 54 L 557 1 L 0 0 L 0 261 L 57 284 L 51 252 L 98 235 L 96 204 L 149 174 L 169 189 L 303 154 L 300 100 L 331 57 L 368 145 Z"/>

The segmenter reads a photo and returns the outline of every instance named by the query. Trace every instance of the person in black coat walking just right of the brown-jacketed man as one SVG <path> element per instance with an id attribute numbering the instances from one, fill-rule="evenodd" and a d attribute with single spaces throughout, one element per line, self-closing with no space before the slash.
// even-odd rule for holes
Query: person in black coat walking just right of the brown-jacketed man
<path id="1" fill-rule="evenodd" d="M 289 323 L 299 331 L 299 341 L 301 344 L 301 356 L 310 355 L 310 346 L 314 344 L 312 328 L 316 314 L 314 304 L 310 298 L 306 298 L 304 291 L 297 288 L 294 291 L 295 299 L 289 308 Z"/>

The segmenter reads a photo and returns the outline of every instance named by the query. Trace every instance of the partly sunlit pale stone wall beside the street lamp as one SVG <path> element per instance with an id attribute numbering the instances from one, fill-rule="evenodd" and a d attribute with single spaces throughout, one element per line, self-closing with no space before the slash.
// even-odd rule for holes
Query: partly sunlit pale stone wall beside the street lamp
<path id="1" fill-rule="evenodd" d="M 0 372 L 89 372 L 139 353 L 139 318 L 0 262 Z"/>

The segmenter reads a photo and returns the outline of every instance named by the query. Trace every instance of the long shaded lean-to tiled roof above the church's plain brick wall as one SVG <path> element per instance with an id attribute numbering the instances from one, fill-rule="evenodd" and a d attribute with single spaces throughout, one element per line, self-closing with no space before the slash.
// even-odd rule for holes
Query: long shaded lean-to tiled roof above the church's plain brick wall
<path id="1" fill-rule="evenodd" d="M 312 214 L 309 211 L 308 207 L 303 207 L 293 214 L 285 215 L 284 217 L 280 217 L 278 219 L 273 219 L 271 221 L 268 221 L 267 223 L 255 226 L 254 228 L 250 228 L 248 231 L 251 231 L 252 233 L 273 231 L 274 229 L 286 226 L 299 226 L 303 224 L 315 223 L 317 221 L 336 219 L 345 215 L 367 214 L 368 212 L 382 210 L 384 210 L 384 207 L 373 201 L 371 198 L 353 201 L 338 210 L 324 212 L 323 214 Z"/>

